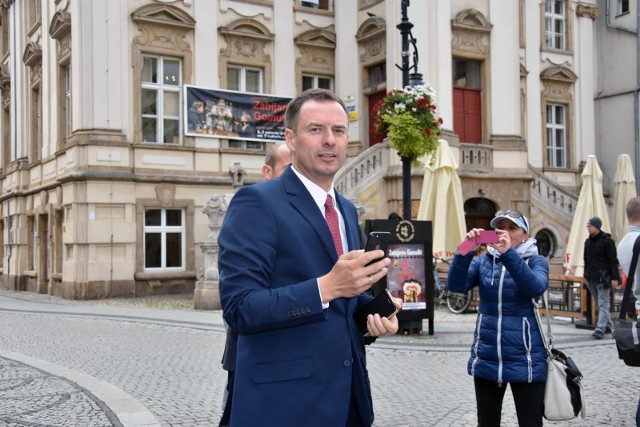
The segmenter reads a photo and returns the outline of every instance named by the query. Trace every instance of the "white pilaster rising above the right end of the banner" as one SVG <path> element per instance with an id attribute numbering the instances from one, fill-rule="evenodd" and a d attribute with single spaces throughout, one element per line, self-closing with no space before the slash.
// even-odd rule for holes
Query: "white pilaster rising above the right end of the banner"
<path id="1" fill-rule="evenodd" d="M 215 3 L 215 2 L 214 2 Z M 280 96 L 296 95 L 296 57 L 293 43 L 293 7 L 291 2 L 273 2 L 273 78 L 274 93 Z"/>

